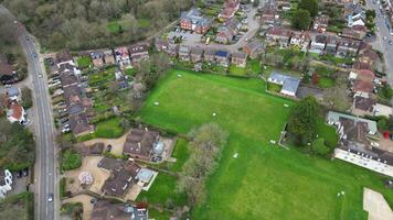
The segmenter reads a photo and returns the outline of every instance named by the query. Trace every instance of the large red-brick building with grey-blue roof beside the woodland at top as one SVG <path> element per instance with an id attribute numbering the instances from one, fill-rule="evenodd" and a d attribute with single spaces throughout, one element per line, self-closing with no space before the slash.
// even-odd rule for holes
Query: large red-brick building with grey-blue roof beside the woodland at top
<path id="1" fill-rule="evenodd" d="M 205 34 L 211 28 L 211 20 L 203 18 L 198 9 L 183 12 L 180 18 L 180 28 L 194 31 L 197 34 Z"/>

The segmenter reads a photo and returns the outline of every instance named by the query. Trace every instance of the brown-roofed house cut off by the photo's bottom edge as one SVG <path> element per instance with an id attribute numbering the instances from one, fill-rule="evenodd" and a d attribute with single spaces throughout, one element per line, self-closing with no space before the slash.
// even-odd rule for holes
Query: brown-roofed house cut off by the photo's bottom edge
<path id="1" fill-rule="evenodd" d="M 93 205 L 91 220 L 148 220 L 149 212 L 146 206 L 124 205 L 98 200 Z"/>

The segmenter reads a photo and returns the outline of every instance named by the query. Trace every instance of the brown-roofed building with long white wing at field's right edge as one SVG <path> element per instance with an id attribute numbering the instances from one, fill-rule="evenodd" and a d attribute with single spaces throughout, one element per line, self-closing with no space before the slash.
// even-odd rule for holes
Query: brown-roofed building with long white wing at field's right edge
<path id="1" fill-rule="evenodd" d="M 378 148 L 374 142 L 375 121 L 329 111 L 327 122 L 339 134 L 336 158 L 393 177 L 393 154 Z"/>

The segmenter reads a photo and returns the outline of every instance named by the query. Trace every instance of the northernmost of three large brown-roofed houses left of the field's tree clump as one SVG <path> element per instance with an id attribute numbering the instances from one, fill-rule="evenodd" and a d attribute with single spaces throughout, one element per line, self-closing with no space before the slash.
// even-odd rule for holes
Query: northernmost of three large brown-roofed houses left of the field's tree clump
<path id="1" fill-rule="evenodd" d="M 132 129 L 124 144 L 124 154 L 141 161 L 160 161 L 164 145 L 158 131 Z"/>

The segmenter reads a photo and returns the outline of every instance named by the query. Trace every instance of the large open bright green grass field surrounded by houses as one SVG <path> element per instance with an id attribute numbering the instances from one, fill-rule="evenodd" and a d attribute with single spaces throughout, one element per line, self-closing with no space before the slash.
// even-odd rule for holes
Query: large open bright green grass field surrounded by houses
<path id="1" fill-rule="evenodd" d="M 393 204 L 393 191 L 374 173 L 269 144 L 287 121 L 284 105 L 294 102 L 264 89 L 258 79 L 172 70 L 142 107 L 145 122 L 170 131 L 187 133 L 216 122 L 230 132 L 220 166 L 206 183 L 208 199 L 193 209 L 193 219 L 367 219 L 363 187 Z M 346 196 L 338 198 L 341 190 Z"/>

